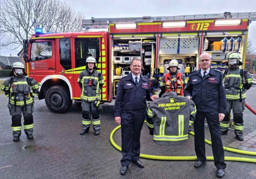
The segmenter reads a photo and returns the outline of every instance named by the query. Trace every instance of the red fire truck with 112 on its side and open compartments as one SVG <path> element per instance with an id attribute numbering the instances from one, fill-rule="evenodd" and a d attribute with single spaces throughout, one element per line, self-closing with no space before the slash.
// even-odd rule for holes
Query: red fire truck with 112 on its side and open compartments
<path id="1" fill-rule="evenodd" d="M 73 100 L 81 100 L 77 79 L 85 70 L 86 58 L 94 56 L 105 80 L 101 100 L 111 102 L 120 79 L 130 73 L 134 57 L 142 59 L 142 74 L 149 79 L 161 78 L 166 71 L 164 65 L 173 58 L 189 75 L 199 68 L 198 57 L 203 52 L 212 54 L 211 66 L 220 70 L 225 68 L 229 51 L 240 53 L 245 62 L 248 28 L 254 20 L 255 12 L 91 18 L 83 20 L 82 26 L 108 30 L 46 34 L 39 31 L 30 40 L 24 40 L 27 75 L 40 82 L 39 99 L 45 99 L 51 111 L 63 113 Z M 160 69 L 160 74 L 156 69 Z"/>

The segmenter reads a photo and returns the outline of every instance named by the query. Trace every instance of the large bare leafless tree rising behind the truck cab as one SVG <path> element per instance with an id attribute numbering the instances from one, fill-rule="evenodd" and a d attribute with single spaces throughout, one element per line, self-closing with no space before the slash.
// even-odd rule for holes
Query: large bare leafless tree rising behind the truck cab
<path id="1" fill-rule="evenodd" d="M 36 28 L 44 32 L 80 32 L 84 15 L 60 0 L 1 0 L 0 47 L 23 46 Z"/>

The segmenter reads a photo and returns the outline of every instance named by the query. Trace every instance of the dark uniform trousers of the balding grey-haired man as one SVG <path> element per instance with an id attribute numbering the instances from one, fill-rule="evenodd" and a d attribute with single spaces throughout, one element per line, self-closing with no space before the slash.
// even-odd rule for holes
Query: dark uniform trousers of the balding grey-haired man
<path id="1" fill-rule="evenodd" d="M 224 169 L 226 168 L 226 164 L 224 161 L 224 149 L 220 137 L 220 122 L 218 113 L 219 112 L 197 111 L 196 119 L 194 121 L 195 152 L 197 160 L 201 162 L 206 161 L 204 141 L 204 119 L 206 117 L 211 134 L 214 165 L 217 167 L 217 169 Z"/>

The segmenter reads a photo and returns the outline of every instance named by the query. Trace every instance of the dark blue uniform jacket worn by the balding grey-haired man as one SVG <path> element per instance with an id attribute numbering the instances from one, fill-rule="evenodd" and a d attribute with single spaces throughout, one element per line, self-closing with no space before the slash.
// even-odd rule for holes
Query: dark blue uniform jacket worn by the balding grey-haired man
<path id="1" fill-rule="evenodd" d="M 200 69 L 190 74 L 184 96 L 192 96 L 197 111 L 225 113 L 226 95 L 223 75 L 218 70 L 210 69 L 203 79 Z"/>

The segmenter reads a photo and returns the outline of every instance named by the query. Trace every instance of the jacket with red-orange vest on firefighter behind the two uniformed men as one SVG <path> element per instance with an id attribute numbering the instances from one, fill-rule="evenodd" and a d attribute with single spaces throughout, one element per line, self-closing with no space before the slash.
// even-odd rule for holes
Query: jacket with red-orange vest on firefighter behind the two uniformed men
<path id="1" fill-rule="evenodd" d="M 183 90 L 186 85 L 185 76 L 181 73 L 171 75 L 170 73 L 165 74 L 160 82 L 161 90 L 175 91 L 178 96 L 184 96 Z"/>

